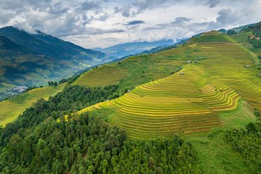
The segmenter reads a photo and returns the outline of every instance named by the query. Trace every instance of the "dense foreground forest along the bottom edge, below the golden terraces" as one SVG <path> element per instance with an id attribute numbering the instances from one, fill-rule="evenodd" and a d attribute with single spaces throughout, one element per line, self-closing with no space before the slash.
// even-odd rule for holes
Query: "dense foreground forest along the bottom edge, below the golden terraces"
<path id="1" fill-rule="evenodd" d="M 198 173 L 192 145 L 172 139 L 129 140 L 100 118 L 47 118 L 12 135 L 0 155 L 3 173 Z"/>

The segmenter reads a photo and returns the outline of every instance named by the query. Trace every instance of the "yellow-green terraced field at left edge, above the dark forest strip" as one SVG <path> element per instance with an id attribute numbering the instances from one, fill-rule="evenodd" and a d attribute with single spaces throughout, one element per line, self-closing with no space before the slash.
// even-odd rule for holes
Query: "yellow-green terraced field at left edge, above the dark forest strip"
<path id="1" fill-rule="evenodd" d="M 62 91 L 65 83 L 57 87 L 41 87 L 27 91 L 24 94 L 0 102 L 0 125 L 5 126 L 8 122 L 14 121 L 25 109 L 31 107 L 40 98 L 47 100 Z"/>

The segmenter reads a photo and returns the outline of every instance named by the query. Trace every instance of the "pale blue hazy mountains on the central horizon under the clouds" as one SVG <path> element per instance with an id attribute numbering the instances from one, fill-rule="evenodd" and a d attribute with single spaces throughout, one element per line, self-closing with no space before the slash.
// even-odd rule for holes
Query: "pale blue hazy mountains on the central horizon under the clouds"
<path id="1" fill-rule="evenodd" d="M 178 40 L 179 41 L 179 40 Z M 151 50 L 154 47 L 166 47 L 170 45 L 174 45 L 172 39 L 162 39 L 160 41 L 152 41 L 152 42 L 133 42 L 133 43 L 122 43 L 119 45 L 113 45 L 111 47 L 106 48 L 93 48 L 93 50 L 97 50 L 100 52 L 104 52 L 109 56 L 115 58 L 122 58 L 129 55 L 139 54 L 141 52 Z"/>

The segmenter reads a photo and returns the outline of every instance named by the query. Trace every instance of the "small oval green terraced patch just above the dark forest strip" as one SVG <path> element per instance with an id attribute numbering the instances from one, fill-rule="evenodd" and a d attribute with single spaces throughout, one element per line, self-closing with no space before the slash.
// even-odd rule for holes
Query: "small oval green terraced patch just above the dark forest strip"
<path id="1" fill-rule="evenodd" d="M 121 78 L 128 76 L 126 69 L 112 65 L 104 65 L 82 74 L 73 84 L 98 87 L 119 83 Z"/>

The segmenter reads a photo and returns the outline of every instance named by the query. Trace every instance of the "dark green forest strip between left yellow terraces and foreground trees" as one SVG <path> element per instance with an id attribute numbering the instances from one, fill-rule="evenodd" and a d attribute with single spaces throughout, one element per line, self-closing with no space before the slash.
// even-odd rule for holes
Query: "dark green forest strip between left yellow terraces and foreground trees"
<path id="1" fill-rule="evenodd" d="M 117 85 L 108 87 L 87 88 L 78 85 L 68 85 L 62 92 L 49 100 L 43 98 L 38 100 L 34 107 L 26 109 L 19 118 L 5 126 L 5 129 L 0 128 L 0 150 L 5 146 L 10 137 L 20 129 L 34 127 L 43 122 L 49 116 L 57 119 L 60 116 L 65 116 L 67 113 L 78 111 L 84 107 L 88 107 L 97 102 L 117 98 L 119 95 L 115 93 Z"/>

